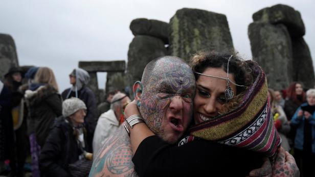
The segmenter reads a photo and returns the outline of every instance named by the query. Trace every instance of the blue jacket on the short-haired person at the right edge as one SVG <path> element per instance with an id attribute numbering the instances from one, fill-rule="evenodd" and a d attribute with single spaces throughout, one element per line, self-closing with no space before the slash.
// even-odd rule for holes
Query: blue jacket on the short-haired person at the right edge
<path id="1" fill-rule="evenodd" d="M 303 103 L 301 106 L 306 106 L 307 103 Z M 304 115 L 298 117 L 298 112 L 301 110 L 301 106 L 297 109 L 294 116 L 291 119 L 291 124 L 297 126 L 297 134 L 294 141 L 294 147 L 303 150 L 304 141 Z M 315 112 L 311 117 L 309 117 L 309 123 L 312 125 L 312 153 L 315 153 Z"/>

